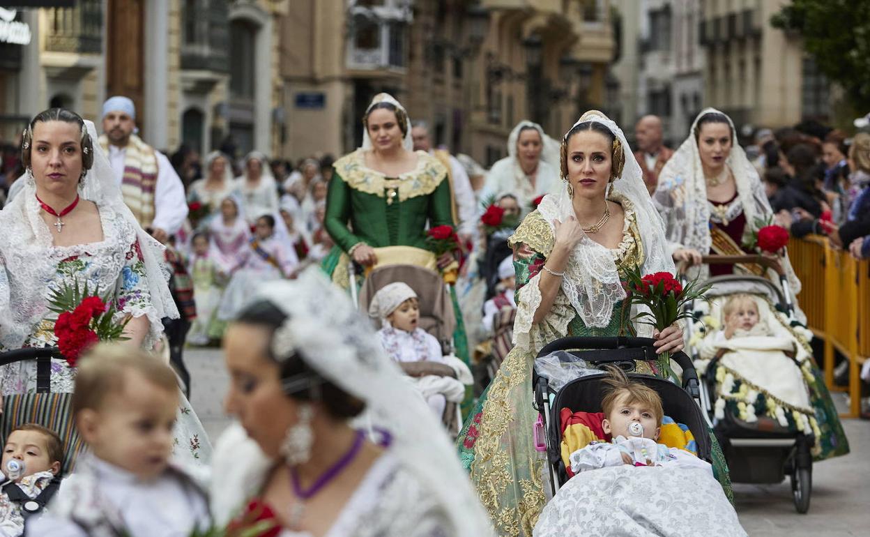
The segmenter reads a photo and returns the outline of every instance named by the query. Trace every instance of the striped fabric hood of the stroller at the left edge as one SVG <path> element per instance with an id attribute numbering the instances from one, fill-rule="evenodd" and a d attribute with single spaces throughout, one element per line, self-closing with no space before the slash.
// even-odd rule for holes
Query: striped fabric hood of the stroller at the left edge
<path id="1" fill-rule="evenodd" d="M 3 396 L 0 416 L 0 436 L 3 443 L 17 426 L 36 423 L 57 433 L 64 441 L 64 461 L 61 473 L 68 475 L 84 449 L 70 415 L 72 393 L 13 393 Z"/>

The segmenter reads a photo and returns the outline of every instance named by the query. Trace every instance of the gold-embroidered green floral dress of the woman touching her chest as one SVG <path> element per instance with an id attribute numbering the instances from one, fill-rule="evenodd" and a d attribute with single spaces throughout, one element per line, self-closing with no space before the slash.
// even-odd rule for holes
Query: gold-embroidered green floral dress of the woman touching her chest
<path id="1" fill-rule="evenodd" d="M 612 197 L 625 212 L 623 238 L 610 250 L 617 266 L 641 265 L 644 259 L 635 214 L 626 198 Z M 514 250 L 517 275 L 518 311 L 533 315 L 526 285 L 538 285 L 536 278 L 552 252 L 552 227 L 539 211 L 532 211 L 509 240 Z M 532 326 L 531 348 L 515 346 L 502 362 L 499 372 L 478 401 L 478 406 L 459 433 L 457 445 L 465 468 L 499 535 L 532 536 L 532 527 L 545 505 L 542 476 L 546 473 L 545 453 L 536 451 L 533 426 L 538 412 L 532 406 L 532 365 L 545 344 L 562 337 L 612 337 L 631 335 L 626 321 L 631 315 L 623 303 L 613 306 L 610 323 L 603 328 L 586 326 L 561 290 L 545 318 Z M 655 373 L 653 363 L 638 362 L 639 373 Z M 719 455 L 720 457 L 720 455 Z M 720 473 L 726 474 L 719 460 Z M 725 477 L 724 480 L 727 480 Z M 726 488 L 730 493 L 730 487 Z"/>

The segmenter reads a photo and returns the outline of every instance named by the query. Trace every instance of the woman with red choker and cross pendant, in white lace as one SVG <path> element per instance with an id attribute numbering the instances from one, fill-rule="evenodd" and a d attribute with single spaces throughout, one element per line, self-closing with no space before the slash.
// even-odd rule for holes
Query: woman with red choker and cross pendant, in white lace
<path id="1" fill-rule="evenodd" d="M 23 189 L 0 211 L 0 352 L 57 345 L 48 299 L 63 285 L 110 292 L 118 319 L 130 319 L 125 345 L 150 350 L 163 333 L 162 319 L 178 316 L 164 247 L 124 205 L 96 139 L 94 124 L 57 108 L 38 114 L 23 133 Z M 36 391 L 32 360 L 0 372 L 3 394 Z M 74 379 L 74 366 L 52 360 L 52 393 L 72 392 Z M 211 446 L 182 400 L 176 454 L 201 463 Z"/>

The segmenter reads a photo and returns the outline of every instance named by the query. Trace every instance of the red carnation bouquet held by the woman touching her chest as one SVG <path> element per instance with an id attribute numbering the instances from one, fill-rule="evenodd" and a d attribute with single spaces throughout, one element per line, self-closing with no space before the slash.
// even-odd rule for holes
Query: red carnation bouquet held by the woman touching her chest
<path id="1" fill-rule="evenodd" d="M 634 320 L 653 326 L 659 332 L 673 326 L 679 319 L 691 317 L 686 311 L 686 303 L 704 299 L 710 285 L 690 282 L 685 287 L 673 277 L 671 272 L 655 272 L 641 276 L 639 267 L 626 270 L 626 293 L 629 303 L 643 306 L 644 310 Z M 666 379 L 673 377 L 671 354 L 659 354 L 659 373 Z"/>

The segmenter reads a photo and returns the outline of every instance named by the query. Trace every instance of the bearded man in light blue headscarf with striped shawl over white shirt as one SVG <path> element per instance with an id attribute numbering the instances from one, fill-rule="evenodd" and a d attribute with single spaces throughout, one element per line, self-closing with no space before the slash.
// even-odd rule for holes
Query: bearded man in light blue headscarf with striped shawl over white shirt
<path id="1" fill-rule="evenodd" d="M 103 104 L 99 138 L 109 157 L 124 203 L 139 225 L 166 243 L 187 218 L 184 184 L 169 158 L 145 144 L 136 134 L 136 107 L 127 97 L 111 97 Z"/>

